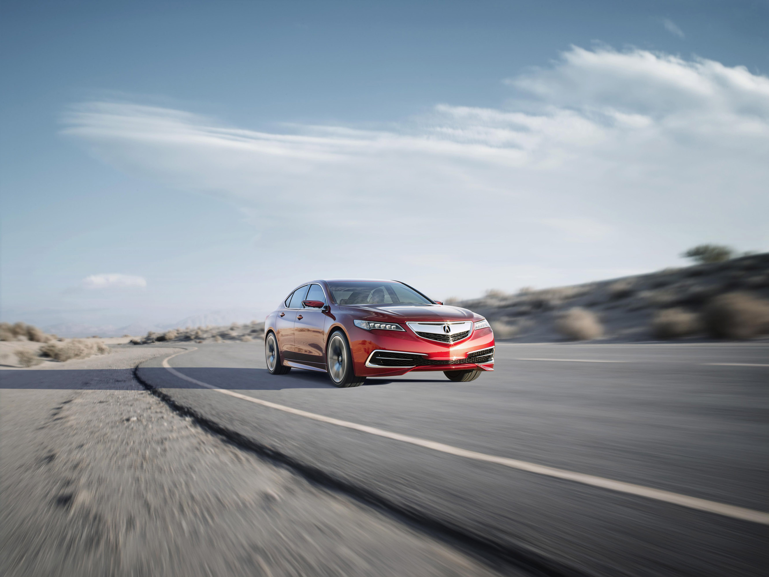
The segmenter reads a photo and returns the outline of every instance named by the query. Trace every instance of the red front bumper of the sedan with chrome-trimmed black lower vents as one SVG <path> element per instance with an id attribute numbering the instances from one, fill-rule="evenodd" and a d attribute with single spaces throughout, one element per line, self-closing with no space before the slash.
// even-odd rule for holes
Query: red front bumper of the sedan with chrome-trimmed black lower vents
<path id="1" fill-rule="evenodd" d="M 362 330 L 355 327 L 350 345 L 359 376 L 398 376 L 428 370 L 494 370 L 494 333 L 474 330 L 459 343 L 426 340 L 411 330 Z"/>

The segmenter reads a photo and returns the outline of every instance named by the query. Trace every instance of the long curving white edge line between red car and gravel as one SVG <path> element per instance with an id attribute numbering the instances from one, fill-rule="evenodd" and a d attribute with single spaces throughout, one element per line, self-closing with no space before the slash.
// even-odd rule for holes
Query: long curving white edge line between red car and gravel
<path id="1" fill-rule="evenodd" d="M 508 466 L 512 469 L 520 469 L 521 471 L 528 471 L 529 473 L 537 473 L 538 475 L 555 477 L 557 479 L 581 482 L 584 485 L 601 487 L 601 489 L 609 489 L 611 491 L 629 493 L 630 495 L 637 495 L 646 497 L 647 499 L 656 499 L 657 501 L 669 502 L 673 503 L 674 505 L 688 507 L 690 509 L 698 509 L 700 511 L 707 511 L 716 513 L 717 515 L 732 517 L 734 519 L 742 519 L 744 521 L 769 525 L 769 513 L 763 511 L 755 511 L 753 509 L 745 509 L 744 507 L 726 505 L 725 503 L 708 501 L 707 499 L 698 499 L 697 497 L 680 495 L 674 492 L 662 491 L 661 489 L 652 489 L 651 487 L 634 485 L 629 482 L 614 481 L 612 479 L 604 479 L 603 477 L 585 475 L 583 473 L 574 473 L 573 471 L 567 471 L 564 469 L 555 469 L 554 467 L 538 465 L 536 463 L 528 463 L 527 461 L 519 461 L 518 459 L 508 459 L 507 457 L 468 451 L 467 449 L 460 449 L 459 447 L 444 445 L 443 443 L 435 443 L 434 441 L 428 441 L 427 439 L 419 439 L 418 437 L 401 435 L 400 433 L 391 433 L 390 431 L 377 429 L 373 426 L 359 425 L 358 423 L 351 423 L 341 419 L 334 419 L 330 416 L 308 413 L 308 411 L 294 409 L 291 406 L 278 405 L 278 403 L 271 403 L 270 401 L 257 399 L 253 396 L 242 395 L 241 393 L 235 393 L 234 391 L 227 389 L 219 389 L 213 385 L 204 383 L 203 381 L 193 379 L 184 373 L 180 373 L 178 370 L 168 364 L 169 359 L 172 359 L 173 357 L 184 354 L 186 352 L 188 351 L 167 356 L 165 359 L 163 359 L 163 366 L 165 366 L 166 369 L 168 369 L 174 375 L 178 376 L 180 379 L 186 380 L 189 383 L 195 383 L 196 385 L 205 387 L 206 389 L 215 390 L 218 393 L 229 396 L 234 396 L 236 399 L 245 400 L 249 403 L 268 406 L 271 409 L 277 409 L 285 413 L 291 413 L 292 415 L 303 416 L 307 419 L 314 419 L 316 421 L 321 421 L 321 423 L 343 426 L 347 429 L 355 429 L 356 431 L 381 436 L 385 439 L 393 439 L 395 441 L 401 441 L 402 443 L 410 443 L 411 445 L 421 446 L 425 449 L 433 449 L 434 451 L 440 451 L 441 453 L 448 453 L 450 455 L 466 457 L 468 459 L 475 459 L 477 461 L 485 461 L 487 463 L 497 463 L 498 465 Z"/>

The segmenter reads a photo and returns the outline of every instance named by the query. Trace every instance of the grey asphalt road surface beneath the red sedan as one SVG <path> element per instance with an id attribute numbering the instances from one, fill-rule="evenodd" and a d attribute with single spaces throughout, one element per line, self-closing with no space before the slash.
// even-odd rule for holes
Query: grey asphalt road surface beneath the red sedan
<path id="1" fill-rule="evenodd" d="M 211 386 L 333 419 L 769 510 L 767 343 L 499 344 L 496 370 L 471 383 L 412 373 L 353 389 L 321 373 L 271 376 L 261 347 L 200 345 L 168 363 Z M 479 555 L 551 575 L 765 575 L 769 526 L 760 522 L 285 413 L 183 380 L 161 358 L 137 375 L 174 403 Z"/>

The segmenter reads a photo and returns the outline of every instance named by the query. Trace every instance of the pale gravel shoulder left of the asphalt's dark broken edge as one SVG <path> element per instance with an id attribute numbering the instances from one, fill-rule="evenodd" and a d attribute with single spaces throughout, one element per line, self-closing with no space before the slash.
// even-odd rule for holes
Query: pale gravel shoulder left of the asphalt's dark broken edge
<path id="1" fill-rule="evenodd" d="M 0 371 L 0 573 L 498 575 L 172 412 L 131 373 L 171 351 Z"/>

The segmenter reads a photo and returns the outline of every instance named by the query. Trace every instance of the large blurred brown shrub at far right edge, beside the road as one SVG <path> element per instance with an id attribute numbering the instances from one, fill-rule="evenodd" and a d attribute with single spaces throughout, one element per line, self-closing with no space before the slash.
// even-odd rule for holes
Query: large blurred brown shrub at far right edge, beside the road
<path id="1" fill-rule="evenodd" d="M 769 333 L 769 302 L 748 293 L 715 297 L 703 311 L 707 332 L 718 339 L 750 339 Z"/>

